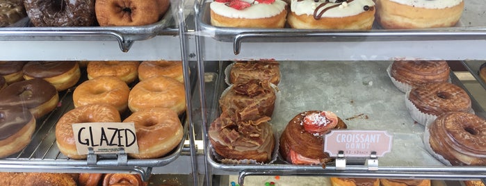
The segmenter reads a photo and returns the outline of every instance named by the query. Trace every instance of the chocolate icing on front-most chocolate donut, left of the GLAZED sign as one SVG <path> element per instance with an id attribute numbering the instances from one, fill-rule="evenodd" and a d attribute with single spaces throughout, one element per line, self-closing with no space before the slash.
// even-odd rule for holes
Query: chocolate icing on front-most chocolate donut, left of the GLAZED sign
<path id="1" fill-rule="evenodd" d="M 0 140 L 17 133 L 31 121 L 33 115 L 21 106 L 0 106 Z"/>

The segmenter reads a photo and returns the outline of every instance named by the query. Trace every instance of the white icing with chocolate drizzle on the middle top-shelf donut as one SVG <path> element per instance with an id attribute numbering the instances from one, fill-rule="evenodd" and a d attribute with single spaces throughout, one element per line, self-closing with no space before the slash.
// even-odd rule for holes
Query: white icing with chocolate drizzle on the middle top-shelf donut
<path id="1" fill-rule="evenodd" d="M 317 3 L 314 0 L 292 0 L 290 3 L 291 11 L 295 13 L 295 15 L 309 15 L 314 16 L 314 10 L 321 4 L 325 3 L 325 0 L 319 0 Z M 373 0 L 355 0 L 350 3 L 327 3 L 323 6 L 320 10 L 324 8 L 334 6 L 334 5 L 341 5 L 337 8 L 331 8 L 326 10 L 321 17 L 348 17 L 353 15 L 358 15 L 364 12 L 364 6 L 375 6 Z M 320 12 L 320 11 L 318 11 Z"/>

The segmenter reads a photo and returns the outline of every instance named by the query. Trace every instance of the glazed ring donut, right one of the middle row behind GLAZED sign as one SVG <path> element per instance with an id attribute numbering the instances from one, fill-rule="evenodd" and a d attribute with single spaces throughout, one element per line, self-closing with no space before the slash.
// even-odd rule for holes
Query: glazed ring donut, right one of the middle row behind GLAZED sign
<path id="1" fill-rule="evenodd" d="M 186 111 L 184 84 L 173 78 L 158 76 L 140 81 L 130 91 L 128 107 L 131 112 L 143 108 L 170 108 L 178 115 Z"/>

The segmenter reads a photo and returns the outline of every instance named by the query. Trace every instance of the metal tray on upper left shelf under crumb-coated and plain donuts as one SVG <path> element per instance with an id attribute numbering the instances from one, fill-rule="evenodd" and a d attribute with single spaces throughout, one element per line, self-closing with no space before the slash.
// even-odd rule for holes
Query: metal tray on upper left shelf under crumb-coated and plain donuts
<path id="1" fill-rule="evenodd" d="M 134 41 L 149 40 L 156 35 L 178 35 L 177 6 L 171 6 L 159 22 L 145 26 L 69 26 L 33 27 L 29 17 L 8 27 L 0 28 L 3 41 L 118 41 L 120 49 L 129 51 Z M 184 19 L 193 10 L 184 9 Z"/>

